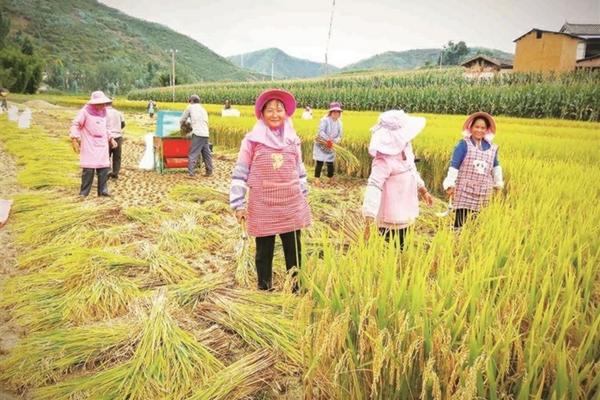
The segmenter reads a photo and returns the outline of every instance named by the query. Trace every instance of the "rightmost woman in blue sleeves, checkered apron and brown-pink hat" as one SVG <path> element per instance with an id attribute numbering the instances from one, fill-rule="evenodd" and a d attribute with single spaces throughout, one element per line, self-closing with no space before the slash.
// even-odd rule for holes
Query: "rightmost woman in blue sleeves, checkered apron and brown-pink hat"
<path id="1" fill-rule="evenodd" d="M 493 189 L 504 187 L 494 118 L 485 112 L 469 115 L 461 139 L 452 154 L 443 187 L 456 210 L 454 227 L 460 228 L 469 214 L 487 205 Z"/>

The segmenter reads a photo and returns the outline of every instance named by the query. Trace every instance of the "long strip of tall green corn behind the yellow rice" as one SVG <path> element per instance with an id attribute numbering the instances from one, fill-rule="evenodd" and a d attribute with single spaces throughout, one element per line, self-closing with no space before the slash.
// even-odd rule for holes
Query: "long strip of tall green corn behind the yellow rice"
<path id="1" fill-rule="evenodd" d="M 494 115 L 530 118 L 600 120 L 600 72 L 563 74 L 511 73 L 490 79 L 464 77 L 462 70 L 340 76 L 295 81 L 212 83 L 176 88 L 176 101 L 190 94 L 203 103 L 253 104 L 270 87 L 291 91 L 299 104 L 325 108 L 340 101 L 348 110 L 470 114 L 485 109 Z M 130 100 L 170 101 L 171 88 L 134 90 Z"/>

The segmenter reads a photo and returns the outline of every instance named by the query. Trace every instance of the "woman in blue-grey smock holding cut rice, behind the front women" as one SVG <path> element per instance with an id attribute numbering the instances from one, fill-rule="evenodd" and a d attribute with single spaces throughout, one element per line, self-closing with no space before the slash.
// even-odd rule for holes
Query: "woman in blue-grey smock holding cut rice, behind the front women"
<path id="1" fill-rule="evenodd" d="M 321 170 L 323 163 L 327 165 L 327 177 L 329 182 L 333 182 L 333 161 L 335 160 L 335 151 L 333 144 L 342 140 L 342 106 L 338 102 L 329 104 L 327 115 L 321 118 L 319 123 L 319 132 L 315 138 L 313 146 L 313 159 L 315 164 L 315 185 L 320 184 Z"/>

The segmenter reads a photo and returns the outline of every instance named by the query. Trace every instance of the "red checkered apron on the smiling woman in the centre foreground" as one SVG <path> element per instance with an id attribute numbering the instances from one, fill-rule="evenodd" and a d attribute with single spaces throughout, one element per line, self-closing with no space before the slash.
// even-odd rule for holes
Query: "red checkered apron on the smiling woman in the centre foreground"
<path id="1" fill-rule="evenodd" d="M 262 237 L 310 225 L 308 203 L 298 176 L 298 153 L 257 144 L 248 176 L 248 233 Z"/>

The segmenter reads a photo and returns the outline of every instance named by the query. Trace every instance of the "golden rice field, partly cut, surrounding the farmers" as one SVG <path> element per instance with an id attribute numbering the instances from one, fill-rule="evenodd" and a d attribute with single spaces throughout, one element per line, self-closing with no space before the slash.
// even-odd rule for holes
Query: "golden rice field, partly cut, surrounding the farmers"
<path id="1" fill-rule="evenodd" d="M 423 207 L 399 253 L 362 238 L 377 113 L 344 112 L 341 145 L 358 168 L 340 165 L 350 176 L 311 188 L 315 223 L 293 296 L 280 249 L 277 291 L 254 290 L 253 241 L 227 211 L 235 150 L 254 122 L 251 108 L 237 108 L 238 119 L 210 115 L 215 177 L 135 171 L 136 138 L 150 125 L 140 117 L 115 196 L 84 202 L 59 129 L 76 109 L 34 109 L 28 131 L 0 115 L 0 151 L 14 157 L 19 185 L 4 228 L 18 257 L 0 278 L 0 308 L 18 333 L 0 355 L 3 390 L 33 399 L 600 396 L 599 123 L 498 118 L 504 193 L 459 234 L 451 217 L 435 216 L 443 201 Z M 294 120 L 307 165 L 320 112 Z M 421 115 L 419 169 L 439 194 L 464 116 Z"/>

